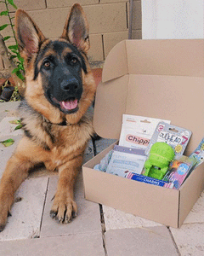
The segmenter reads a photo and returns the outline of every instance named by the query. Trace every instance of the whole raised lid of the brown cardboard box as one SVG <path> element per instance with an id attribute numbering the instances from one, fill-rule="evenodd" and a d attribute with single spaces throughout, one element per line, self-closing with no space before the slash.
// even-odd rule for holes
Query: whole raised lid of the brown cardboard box
<path id="1" fill-rule="evenodd" d="M 169 119 L 192 131 L 185 154 L 204 136 L 204 40 L 126 40 L 111 50 L 98 85 L 94 128 L 120 137 L 122 114 Z"/>

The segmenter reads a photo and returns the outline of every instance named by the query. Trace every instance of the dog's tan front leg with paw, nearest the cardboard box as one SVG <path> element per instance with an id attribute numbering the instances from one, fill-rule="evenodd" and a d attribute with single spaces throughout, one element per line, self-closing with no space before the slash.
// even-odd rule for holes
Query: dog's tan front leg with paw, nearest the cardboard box
<path id="1" fill-rule="evenodd" d="M 74 201 L 73 190 L 81 166 L 82 155 L 79 155 L 59 167 L 59 182 L 50 211 L 51 218 L 58 220 L 59 223 L 69 223 L 77 216 L 77 204 Z"/>

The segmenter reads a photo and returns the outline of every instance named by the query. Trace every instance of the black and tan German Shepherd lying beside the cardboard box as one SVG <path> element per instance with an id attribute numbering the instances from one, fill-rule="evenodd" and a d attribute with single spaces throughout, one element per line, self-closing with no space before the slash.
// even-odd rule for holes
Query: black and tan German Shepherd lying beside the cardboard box
<path id="1" fill-rule="evenodd" d="M 14 192 L 40 163 L 48 171 L 59 172 L 51 218 L 69 223 L 77 215 L 73 187 L 94 133 L 88 109 L 95 84 L 88 65 L 88 21 L 82 7 L 72 6 L 59 39 L 45 38 L 21 9 L 15 15 L 15 32 L 26 68 L 25 100 L 20 103 L 24 137 L 1 179 L 0 231 L 10 215 Z"/>

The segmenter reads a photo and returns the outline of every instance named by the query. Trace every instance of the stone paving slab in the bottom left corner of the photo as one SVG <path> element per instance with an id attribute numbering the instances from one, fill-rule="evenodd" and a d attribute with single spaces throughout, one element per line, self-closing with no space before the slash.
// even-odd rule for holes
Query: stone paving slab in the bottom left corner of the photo
<path id="1" fill-rule="evenodd" d="M 2 256 L 105 256 L 101 233 L 0 242 Z"/>

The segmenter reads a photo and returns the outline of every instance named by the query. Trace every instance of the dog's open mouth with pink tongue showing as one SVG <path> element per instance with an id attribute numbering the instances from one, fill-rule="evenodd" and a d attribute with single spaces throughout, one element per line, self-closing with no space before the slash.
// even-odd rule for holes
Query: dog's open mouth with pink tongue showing
<path id="1" fill-rule="evenodd" d="M 64 113 L 75 113 L 78 110 L 78 100 L 75 97 L 59 102 L 54 96 L 50 95 L 50 99 L 57 105 Z"/>

